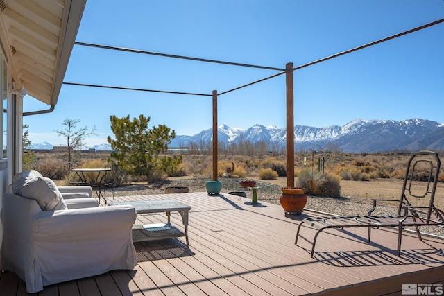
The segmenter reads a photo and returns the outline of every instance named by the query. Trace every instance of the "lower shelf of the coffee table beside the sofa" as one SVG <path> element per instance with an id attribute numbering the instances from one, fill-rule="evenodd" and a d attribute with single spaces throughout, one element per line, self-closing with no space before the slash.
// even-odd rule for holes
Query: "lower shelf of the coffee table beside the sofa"
<path id="1" fill-rule="evenodd" d="M 157 241 L 180 236 L 185 236 L 185 233 L 170 223 L 133 225 L 133 243 L 139 241 Z"/>

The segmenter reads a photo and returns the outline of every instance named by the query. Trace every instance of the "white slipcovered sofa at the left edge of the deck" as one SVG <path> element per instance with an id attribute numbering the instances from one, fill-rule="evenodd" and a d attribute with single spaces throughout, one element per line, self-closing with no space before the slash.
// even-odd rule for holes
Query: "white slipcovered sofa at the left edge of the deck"
<path id="1" fill-rule="evenodd" d="M 131 236 L 135 209 L 98 207 L 89 197 L 92 189 L 83 187 L 60 187 L 67 209 L 50 211 L 34 199 L 3 195 L 1 263 L 26 282 L 28 293 L 137 264 Z"/>

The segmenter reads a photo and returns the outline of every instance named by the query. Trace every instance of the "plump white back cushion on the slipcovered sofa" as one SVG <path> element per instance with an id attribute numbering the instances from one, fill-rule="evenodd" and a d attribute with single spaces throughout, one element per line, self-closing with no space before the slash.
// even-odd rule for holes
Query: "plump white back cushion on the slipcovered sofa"
<path id="1" fill-rule="evenodd" d="M 68 209 L 53 180 L 47 177 L 35 177 L 22 186 L 19 192 L 24 198 L 31 198 L 39 204 L 43 211 Z"/>

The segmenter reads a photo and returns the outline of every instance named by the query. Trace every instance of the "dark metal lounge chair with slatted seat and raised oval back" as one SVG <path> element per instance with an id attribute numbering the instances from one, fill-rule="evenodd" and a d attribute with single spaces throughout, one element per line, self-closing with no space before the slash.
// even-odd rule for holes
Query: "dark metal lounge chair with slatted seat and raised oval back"
<path id="1" fill-rule="evenodd" d="M 402 228 L 414 227 L 418 238 L 422 241 L 419 232 L 420 226 L 444 225 L 444 212 L 434 206 L 436 182 L 441 162 L 438 155 L 432 151 L 419 151 L 411 155 L 407 163 L 407 169 L 402 185 L 399 200 L 374 199 L 373 208 L 368 211 L 368 216 L 316 216 L 305 218 L 301 221 L 296 232 L 295 245 L 298 244 L 300 229 L 302 225 L 317 229 L 311 247 L 311 257 L 318 235 L 329 228 L 343 229 L 348 227 L 367 227 L 367 241 L 370 243 L 370 232 L 372 228 L 398 227 L 398 250 L 400 256 Z M 418 186 L 420 186 L 418 188 Z M 426 201 L 428 206 L 420 204 L 420 200 Z M 372 216 L 377 208 L 377 202 L 398 202 L 398 213 L 393 216 Z"/>

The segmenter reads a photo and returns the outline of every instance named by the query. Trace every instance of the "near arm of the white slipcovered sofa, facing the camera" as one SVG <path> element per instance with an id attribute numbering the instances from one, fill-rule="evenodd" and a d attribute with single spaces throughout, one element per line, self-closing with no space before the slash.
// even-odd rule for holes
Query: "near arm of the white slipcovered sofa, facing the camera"
<path id="1" fill-rule="evenodd" d="M 48 279 L 60 278 L 61 270 L 67 272 L 65 281 L 72 270 L 79 278 L 132 269 L 137 264 L 132 232 L 135 209 L 113 208 L 42 211 L 37 215 L 33 224 L 33 245 L 38 251 L 35 260 Z M 65 266 L 70 266 L 69 270 Z"/>

